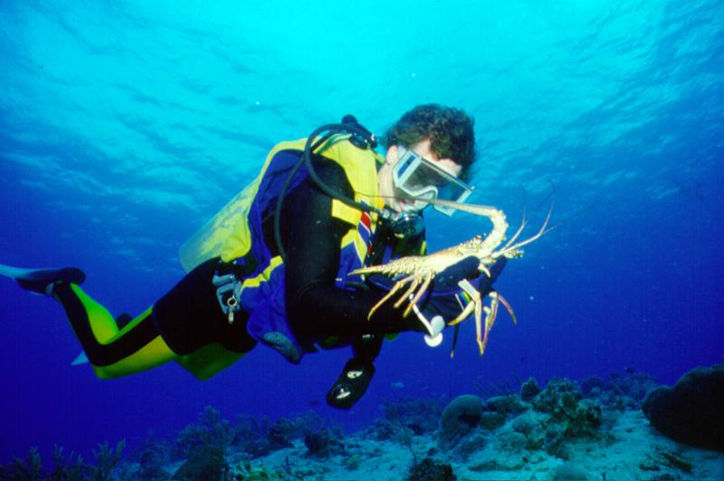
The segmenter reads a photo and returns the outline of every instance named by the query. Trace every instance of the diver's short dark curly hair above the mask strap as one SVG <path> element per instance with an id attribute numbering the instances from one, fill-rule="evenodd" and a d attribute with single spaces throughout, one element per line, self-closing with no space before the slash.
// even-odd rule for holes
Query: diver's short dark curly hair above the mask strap
<path id="1" fill-rule="evenodd" d="M 430 149 L 440 159 L 452 159 L 462 166 L 460 177 L 470 176 L 475 162 L 475 120 L 460 109 L 437 103 L 418 105 L 387 130 L 386 147 L 402 145 L 410 147 L 424 139 L 430 139 Z"/>

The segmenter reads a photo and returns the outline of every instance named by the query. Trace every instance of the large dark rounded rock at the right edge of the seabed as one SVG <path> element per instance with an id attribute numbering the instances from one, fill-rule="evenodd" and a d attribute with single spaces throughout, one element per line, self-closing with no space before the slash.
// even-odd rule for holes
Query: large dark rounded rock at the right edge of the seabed
<path id="1" fill-rule="evenodd" d="M 659 432 L 691 446 L 724 451 L 724 365 L 690 370 L 673 388 L 643 399 L 643 414 Z"/>

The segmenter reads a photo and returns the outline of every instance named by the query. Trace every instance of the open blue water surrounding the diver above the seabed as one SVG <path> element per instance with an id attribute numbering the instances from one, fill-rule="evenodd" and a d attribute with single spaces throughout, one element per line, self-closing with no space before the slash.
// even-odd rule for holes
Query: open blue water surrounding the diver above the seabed
<path id="1" fill-rule="evenodd" d="M 626 369 L 672 383 L 721 361 L 724 4 L 204 4 L 0 4 L 0 263 L 78 265 L 112 313 L 139 313 L 274 143 L 346 113 L 382 133 L 435 101 L 476 119 L 473 202 L 511 226 L 525 205 L 530 234 L 555 202 L 562 224 L 497 284 L 519 323 L 501 313 L 482 358 L 472 322 L 452 360 L 450 335 L 386 343 L 366 397 L 336 412 L 323 396 L 348 351 L 292 366 L 259 347 L 205 382 L 175 364 L 97 380 L 71 367 L 60 306 L 0 279 L 0 462 L 53 443 L 92 459 L 206 405 L 352 429 L 402 396 Z M 433 249 L 488 228 L 428 216 Z"/>

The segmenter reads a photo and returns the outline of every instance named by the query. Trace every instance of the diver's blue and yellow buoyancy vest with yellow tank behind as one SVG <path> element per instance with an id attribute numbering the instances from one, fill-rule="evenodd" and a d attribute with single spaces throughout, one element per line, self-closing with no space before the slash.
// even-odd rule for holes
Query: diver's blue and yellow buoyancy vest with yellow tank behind
<path id="1" fill-rule="evenodd" d="M 383 207 L 377 193 L 377 164 L 384 162 L 371 149 L 359 149 L 348 141 L 348 135 L 335 135 L 315 153 L 343 168 L 354 190 L 354 199 L 374 207 Z M 258 341 L 272 348 L 291 362 L 299 362 L 305 352 L 316 351 L 314 343 L 331 347 L 344 340 L 300 340 L 292 332 L 286 313 L 284 296 L 284 263 L 280 255 L 272 255 L 262 234 L 262 219 L 276 205 L 281 188 L 291 169 L 299 162 L 306 139 L 281 142 L 267 156 L 262 172 L 251 184 L 233 198 L 199 232 L 182 245 L 181 263 L 187 271 L 214 256 L 225 262 L 251 265 L 251 274 L 243 280 L 240 303 L 249 313 L 247 331 Z M 304 165 L 291 179 L 291 190 L 309 176 Z M 350 281 L 361 279 L 349 272 L 366 265 L 371 237 L 377 224 L 376 213 L 368 213 L 332 200 L 331 216 L 349 225 L 340 243 L 339 270 L 336 285 L 346 288 Z"/>

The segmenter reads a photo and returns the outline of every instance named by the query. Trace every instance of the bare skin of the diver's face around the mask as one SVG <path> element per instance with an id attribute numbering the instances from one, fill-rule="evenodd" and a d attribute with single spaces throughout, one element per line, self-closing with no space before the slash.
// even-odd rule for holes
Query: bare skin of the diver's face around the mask
<path id="1" fill-rule="evenodd" d="M 460 164 L 456 164 L 452 159 L 438 158 L 437 155 L 430 149 L 430 145 L 430 139 L 424 139 L 414 145 L 411 145 L 409 149 L 413 150 L 417 155 L 431 160 L 437 167 L 442 168 L 455 177 L 458 177 L 462 171 L 462 166 Z M 405 201 L 405 195 L 395 188 L 395 182 L 393 180 L 392 168 L 397 160 L 400 159 L 401 150 L 402 149 L 399 149 L 396 145 L 390 146 L 390 148 L 387 149 L 385 165 L 379 169 L 379 172 L 377 172 L 379 195 L 382 197 L 382 200 L 385 202 L 387 207 L 390 207 L 397 212 L 403 212 L 405 209 L 410 209 L 414 204 L 412 201 Z"/>

